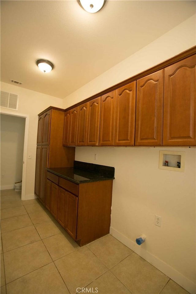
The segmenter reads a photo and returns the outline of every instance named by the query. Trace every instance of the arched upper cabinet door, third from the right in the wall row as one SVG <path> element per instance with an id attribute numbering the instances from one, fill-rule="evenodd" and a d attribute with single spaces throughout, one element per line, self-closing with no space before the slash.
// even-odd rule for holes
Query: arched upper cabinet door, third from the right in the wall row
<path id="1" fill-rule="evenodd" d="M 115 146 L 133 146 L 135 132 L 136 81 L 117 89 Z"/>

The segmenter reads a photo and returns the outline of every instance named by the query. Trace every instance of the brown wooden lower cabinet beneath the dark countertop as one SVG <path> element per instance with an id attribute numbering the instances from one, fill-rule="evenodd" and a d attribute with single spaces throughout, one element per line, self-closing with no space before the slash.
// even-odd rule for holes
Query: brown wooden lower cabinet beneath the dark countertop
<path id="1" fill-rule="evenodd" d="M 112 180 L 75 184 L 47 171 L 46 208 L 79 246 L 109 233 L 111 197 Z"/>

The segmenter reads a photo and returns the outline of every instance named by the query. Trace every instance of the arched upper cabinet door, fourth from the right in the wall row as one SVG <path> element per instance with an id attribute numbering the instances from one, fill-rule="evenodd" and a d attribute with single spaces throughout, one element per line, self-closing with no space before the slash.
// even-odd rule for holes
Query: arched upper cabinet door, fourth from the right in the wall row
<path id="1" fill-rule="evenodd" d="M 116 90 L 101 96 L 100 146 L 114 145 Z"/>

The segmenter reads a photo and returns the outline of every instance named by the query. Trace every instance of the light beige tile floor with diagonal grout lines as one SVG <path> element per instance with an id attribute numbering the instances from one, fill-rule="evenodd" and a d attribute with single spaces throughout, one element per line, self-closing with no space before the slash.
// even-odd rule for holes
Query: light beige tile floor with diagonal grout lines
<path id="1" fill-rule="evenodd" d="M 111 235 L 79 247 L 39 201 L 2 190 L 1 294 L 82 291 L 188 294 Z"/>

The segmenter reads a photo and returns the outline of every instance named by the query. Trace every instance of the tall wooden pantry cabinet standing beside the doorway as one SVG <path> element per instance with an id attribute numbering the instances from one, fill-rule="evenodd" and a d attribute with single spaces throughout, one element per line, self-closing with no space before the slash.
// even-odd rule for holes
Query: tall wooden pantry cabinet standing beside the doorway
<path id="1" fill-rule="evenodd" d="M 46 202 L 46 168 L 72 167 L 75 148 L 62 146 L 64 110 L 48 107 L 38 119 L 35 194 Z"/>

